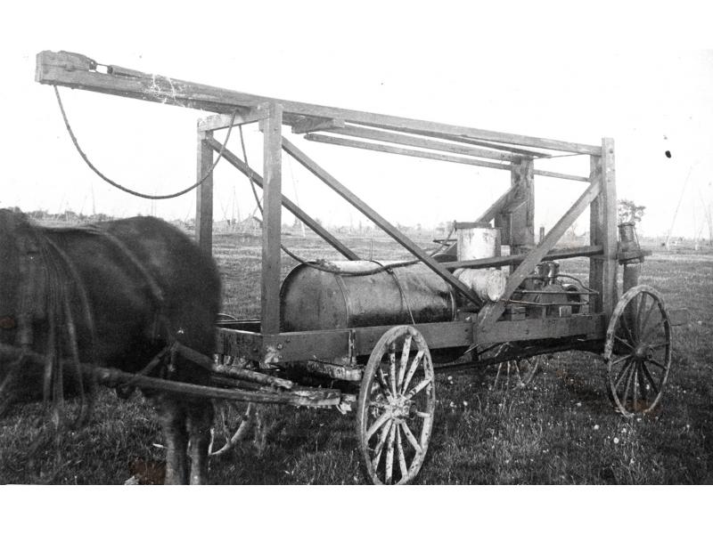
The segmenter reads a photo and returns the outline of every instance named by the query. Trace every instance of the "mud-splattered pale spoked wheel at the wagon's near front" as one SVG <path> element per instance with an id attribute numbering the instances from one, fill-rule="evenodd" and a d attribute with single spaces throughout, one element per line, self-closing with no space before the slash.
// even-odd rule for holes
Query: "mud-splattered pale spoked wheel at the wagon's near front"
<path id="1" fill-rule="evenodd" d="M 405 484 L 421 469 L 436 409 L 429 348 L 413 327 L 391 328 L 362 378 L 356 432 L 374 484 Z"/>

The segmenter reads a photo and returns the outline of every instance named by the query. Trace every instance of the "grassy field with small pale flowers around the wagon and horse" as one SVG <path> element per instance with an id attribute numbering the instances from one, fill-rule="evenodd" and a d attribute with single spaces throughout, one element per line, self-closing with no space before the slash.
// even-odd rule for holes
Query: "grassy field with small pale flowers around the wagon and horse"
<path id="1" fill-rule="evenodd" d="M 369 257 L 369 239 L 344 238 Z M 303 257 L 338 259 L 317 239 L 285 237 Z M 422 244 L 428 241 L 422 239 Z M 395 252 L 396 251 L 396 252 Z M 224 312 L 256 317 L 260 244 L 218 235 L 214 254 L 224 279 Z M 373 257 L 407 257 L 374 239 Z M 283 255 L 283 276 L 295 263 Z M 584 260 L 561 271 L 586 279 Z M 713 482 L 713 255 L 657 252 L 643 265 L 642 283 L 669 307 L 687 307 L 690 323 L 674 328 L 673 366 L 662 407 L 627 421 L 611 408 L 605 366 L 588 353 L 554 355 L 526 389 L 488 389 L 493 374 L 438 376 L 438 406 L 422 484 L 702 484 Z M 35 457 L 39 404 L 15 409 L 0 427 L 0 482 L 116 484 L 136 459 L 160 465 L 160 429 L 139 396 L 119 401 L 103 390 L 93 423 L 45 447 Z M 365 483 L 354 417 L 336 410 L 267 407 L 256 439 L 210 465 L 218 484 Z M 59 453 L 57 452 L 59 450 Z"/>

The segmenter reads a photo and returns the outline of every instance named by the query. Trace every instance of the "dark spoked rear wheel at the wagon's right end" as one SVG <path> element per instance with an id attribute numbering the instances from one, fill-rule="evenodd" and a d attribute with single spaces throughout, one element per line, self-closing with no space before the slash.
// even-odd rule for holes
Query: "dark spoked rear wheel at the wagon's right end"
<path id="1" fill-rule="evenodd" d="M 658 291 L 635 286 L 621 297 L 607 329 L 604 361 L 611 399 L 621 415 L 656 408 L 671 367 L 671 325 Z"/>

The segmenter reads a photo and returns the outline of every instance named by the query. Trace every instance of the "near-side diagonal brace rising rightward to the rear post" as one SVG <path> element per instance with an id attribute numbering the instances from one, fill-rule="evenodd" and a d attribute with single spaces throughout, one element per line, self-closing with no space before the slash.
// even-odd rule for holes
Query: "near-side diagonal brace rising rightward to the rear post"
<path id="1" fill-rule="evenodd" d="M 505 301 L 512 296 L 512 293 L 520 287 L 522 281 L 535 269 L 537 263 L 542 262 L 545 255 L 557 244 L 564 235 L 564 232 L 577 220 L 587 206 L 599 195 L 602 184 L 599 181 L 592 182 L 582 196 L 570 206 L 567 213 L 553 226 L 547 233 L 545 239 L 537 247 L 532 249 L 520 266 L 512 272 L 505 284 L 505 291 L 502 300 L 496 303 L 488 303 L 478 314 L 479 331 L 487 331 L 496 323 L 505 309 Z"/>

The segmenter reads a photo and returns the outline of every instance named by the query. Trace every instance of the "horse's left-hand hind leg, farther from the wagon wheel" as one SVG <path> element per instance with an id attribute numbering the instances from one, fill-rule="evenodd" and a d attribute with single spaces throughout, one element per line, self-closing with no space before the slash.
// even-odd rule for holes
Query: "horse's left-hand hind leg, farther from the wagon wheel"
<path id="1" fill-rule="evenodd" d="M 188 447 L 186 415 L 184 407 L 175 397 L 160 394 L 156 400 L 159 421 L 166 439 L 166 480 L 165 484 L 187 484 L 188 469 L 185 455 Z"/>

